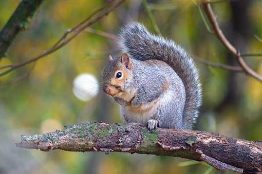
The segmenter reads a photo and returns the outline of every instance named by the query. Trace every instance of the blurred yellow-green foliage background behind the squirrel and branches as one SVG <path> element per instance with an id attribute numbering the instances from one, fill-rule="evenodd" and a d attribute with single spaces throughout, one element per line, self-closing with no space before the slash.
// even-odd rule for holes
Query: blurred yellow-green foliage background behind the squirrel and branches
<path id="1" fill-rule="evenodd" d="M 105 2 L 45 1 L 29 28 L 15 38 L 7 56 L 0 60 L 0 66 L 42 53 L 66 29 L 80 23 Z M 236 65 L 219 40 L 207 31 L 193 1 L 147 2 L 163 36 L 174 39 L 192 55 Z M 19 3 L 18 0 L 0 1 L 0 28 Z M 262 42 L 254 37 L 262 37 L 262 1 L 225 1 L 213 4 L 213 9 L 220 27 L 234 46 L 241 52 L 262 52 Z M 126 1 L 91 28 L 118 34 L 119 28 L 131 20 L 141 21 L 154 31 L 140 0 Z M 108 54 L 119 56 L 116 41 L 83 32 L 59 51 L 37 61 L 29 77 L 6 85 L 32 65 L 0 78 L 0 173 L 218 173 L 202 163 L 188 165 L 192 161 L 172 157 L 44 153 L 15 147 L 13 143 L 20 141 L 23 134 L 45 133 L 87 120 L 122 122 L 118 106 L 102 93 L 96 82 L 101 81 Z M 247 57 L 246 61 L 262 74 L 261 57 Z M 195 129 L 262 140 L 261 83 L 244 73 L 236 74 L 201 63 L 197 66 L 203 105 Z M 79 75 L 86 78 L 77 78 Z"/>

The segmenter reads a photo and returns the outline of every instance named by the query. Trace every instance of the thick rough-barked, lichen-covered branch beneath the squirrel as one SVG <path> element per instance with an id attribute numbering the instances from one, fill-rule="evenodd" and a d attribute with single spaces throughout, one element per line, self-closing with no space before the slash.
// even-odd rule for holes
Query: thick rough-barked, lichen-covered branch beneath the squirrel
<path id="1" fill-rule="evenodd" d="M 218 170 L 246 173 L 262 171 L 262 143 L 210 132 L 157 128 L 149 132 L 139 124 L 80 123 L 65 130 L 22 136 L 17 147 L 50 151 L 105 151 L 173 156 L 204 161 Z"/>

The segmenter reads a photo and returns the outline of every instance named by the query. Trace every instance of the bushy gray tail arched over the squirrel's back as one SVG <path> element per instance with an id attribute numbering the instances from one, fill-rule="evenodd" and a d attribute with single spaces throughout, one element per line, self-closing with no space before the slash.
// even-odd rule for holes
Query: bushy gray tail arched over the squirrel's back
<path id="1" fill-rule="evenodd" d="M 140 23 L 131 23 L 121 29 L 119 45 L 135 59 L 162 60 L 175 70 L 186 92 L 183 128 L 191 129 L 201 105 L 201 84 L 192 58 L 173 40 L 149 33 Z"/>

